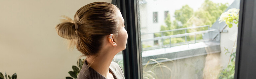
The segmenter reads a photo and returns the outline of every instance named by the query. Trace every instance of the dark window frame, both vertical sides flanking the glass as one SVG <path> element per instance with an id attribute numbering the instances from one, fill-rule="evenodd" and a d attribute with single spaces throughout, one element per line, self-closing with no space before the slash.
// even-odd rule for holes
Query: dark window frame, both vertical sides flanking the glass
<path id="1" fill-rule="evenodd" d="M 125 19 L 128 33 L 127 48 L 123 50 L 124 74 L 126 79 L 143 79 L 141 69 L 141 42 L 137 0 L 112 0 Z M 256 75 L 256 1 L 240 0 L 235 79 L 252 79 Z"/>

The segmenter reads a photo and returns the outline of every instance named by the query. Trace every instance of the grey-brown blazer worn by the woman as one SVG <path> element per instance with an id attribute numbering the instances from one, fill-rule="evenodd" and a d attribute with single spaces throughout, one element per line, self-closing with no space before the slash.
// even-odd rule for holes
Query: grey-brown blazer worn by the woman
<path id="1" fill-rule="evenodd" d="M 125 79 L 123 70 L 116 62 L 111 62 L 109 66 L 109 70 L 113 73 L 115 79 Z M 107 79 L 102 76 L 99 72 L 95 71 L 93 68 L 87 66 L 87 62 L 85 61 L 82 69 L 78 75 L 77 79 Z"/>

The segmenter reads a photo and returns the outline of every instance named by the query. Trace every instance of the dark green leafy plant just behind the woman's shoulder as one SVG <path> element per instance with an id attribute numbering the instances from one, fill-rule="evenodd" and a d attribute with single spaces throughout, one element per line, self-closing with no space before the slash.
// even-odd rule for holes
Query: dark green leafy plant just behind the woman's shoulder
<path id="1" fill-rule="evenodd" d="M 77 75 L 79 74 L 79 72 L 82 69 L 82 66 L 84 64 L 82 61 L 84 61 L 84 59 L 83 60 L 79 59 L 77 61 L 77 66 L 79 68 L 77 66 L 72 66 L 73 71 L 68 72 L 71 77 L 66 77 L 66 79 L 77 79 Z"/>

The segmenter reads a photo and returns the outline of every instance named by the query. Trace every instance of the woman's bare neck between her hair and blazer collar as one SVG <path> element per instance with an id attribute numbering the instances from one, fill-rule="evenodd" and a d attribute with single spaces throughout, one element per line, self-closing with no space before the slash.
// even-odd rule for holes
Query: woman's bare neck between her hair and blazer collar
<path id="1" fill-rule="evenodd" d="M 116 54 L 116 53 L 115 53 Z M 113 52 L 99 52 L 97 56 L 90 56 L 86 58 L 87 63 L 95 71 L 99 72 L 104 77 L 108 78 L 109 66 L 115 56 Z"/>

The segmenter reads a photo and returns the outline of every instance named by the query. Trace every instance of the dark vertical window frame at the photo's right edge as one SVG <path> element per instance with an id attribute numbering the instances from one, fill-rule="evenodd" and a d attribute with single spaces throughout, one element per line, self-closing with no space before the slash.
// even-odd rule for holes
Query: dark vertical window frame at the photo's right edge
<path id="1" fill-rule="evenodd" d="M 235 59 L 235 79 L 256 77 L 256 1 L 241 0 L 237 49 Z"/>

